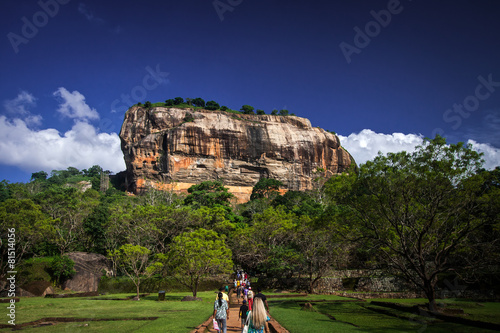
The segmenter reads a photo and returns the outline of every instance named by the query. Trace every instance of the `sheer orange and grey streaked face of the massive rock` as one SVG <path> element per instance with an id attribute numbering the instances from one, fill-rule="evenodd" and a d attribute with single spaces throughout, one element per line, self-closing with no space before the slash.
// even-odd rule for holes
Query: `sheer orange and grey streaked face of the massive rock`
<path id="1" fill-rule="evenodd" d="M 185 191 L 219 179 L 247 201 L 260 178 L 280 180 L 284 190 L 310 190 L 317 168 L 329 177 L 353 162 L 336 135 L 295 116 L 134 106 L 120 138 L 135 193 L 148 186 Z"/>

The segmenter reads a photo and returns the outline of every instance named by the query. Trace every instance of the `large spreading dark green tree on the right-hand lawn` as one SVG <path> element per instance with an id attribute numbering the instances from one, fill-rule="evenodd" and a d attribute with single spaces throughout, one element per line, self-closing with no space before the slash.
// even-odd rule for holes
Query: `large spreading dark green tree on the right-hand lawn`
<path id="1" fill-rule="evenodd" d="M 343 216 L 351 235 L 373 245 L 381 263 L 422 290 L 436 310 L 438 276 L 454 268 L 467 240 L 488 219 L 475 214 L 483 181 L 481 156 L 437 136 L 413 153 L 379 155 L 362 165 Z M 349 185 L 349 182 L 346 182 Z M 349 185 L 350 186 L 350 185 Z"/>

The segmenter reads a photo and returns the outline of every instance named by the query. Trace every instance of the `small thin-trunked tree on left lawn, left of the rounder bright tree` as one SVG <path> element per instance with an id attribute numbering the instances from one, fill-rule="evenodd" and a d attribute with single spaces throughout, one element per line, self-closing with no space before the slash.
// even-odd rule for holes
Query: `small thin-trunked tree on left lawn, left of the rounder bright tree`
<path id="1" fill-rule="evenodd" d="M 141 280 L 152 276 L 163 268 L 159 261 L 151 262 L 151 251 L 140 245 L 125 244 L 119 249 L 110 251 L 108 257 L 129 277 L 137 290 L 139 300 Z"/>

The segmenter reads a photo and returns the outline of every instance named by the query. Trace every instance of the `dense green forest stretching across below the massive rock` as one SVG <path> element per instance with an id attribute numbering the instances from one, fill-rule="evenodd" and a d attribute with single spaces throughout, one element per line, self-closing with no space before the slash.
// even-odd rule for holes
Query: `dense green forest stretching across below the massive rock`
<path id="1" fill-rule="evenodd" d="M 431 308 L 443 276 L 478 288 L 499 282 L 500 168 L 482 169 L 471 146 L 439 136 L 330 179 L 318 170 L 309 192 L 282 195 L 280 182 L 263 178 L 244 204 L 223 181 L 132 196 L 108 174 L 93 166 L 0 182 L 1 278 L 15 228 L 15 262 L 49 262 L 54 283 L 71 274 L 70 251 L 108 256 L 138 290 L 160 274 L 182 277 L 193 295 L 201 276 L 235 266 L 300 277 L 309 292 L 332 269 L 384 269 Z"/>

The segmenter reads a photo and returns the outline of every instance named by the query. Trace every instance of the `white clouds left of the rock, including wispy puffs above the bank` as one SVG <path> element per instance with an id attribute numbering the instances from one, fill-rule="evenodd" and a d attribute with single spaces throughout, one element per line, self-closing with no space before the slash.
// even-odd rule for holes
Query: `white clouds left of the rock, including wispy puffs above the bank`
<path id="1" fill-rule="evenodd" d="M 36 99 L 23 91 L 4 103 L 8 113 L 0 115 L 0 163 L 28 172 L 70 166 L 84 169 L 96 164 L 112 172 L 124 170 L 120 138 L 116 133 L 100 133 L 88 123 L 99 119 L 99 114 L 85 103 L 85 97 L 65 88 L 54 95 L 63 100 L 58 111 L 75 120 L 73 127 L 65 133 L 30 128 L 33 122 L 41 124 L 41 116 L 31 114 L 28 107 L 35 106 Z"/>

